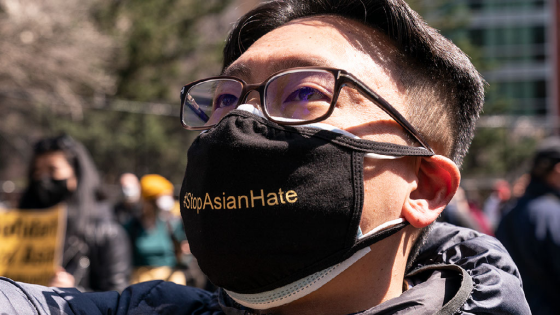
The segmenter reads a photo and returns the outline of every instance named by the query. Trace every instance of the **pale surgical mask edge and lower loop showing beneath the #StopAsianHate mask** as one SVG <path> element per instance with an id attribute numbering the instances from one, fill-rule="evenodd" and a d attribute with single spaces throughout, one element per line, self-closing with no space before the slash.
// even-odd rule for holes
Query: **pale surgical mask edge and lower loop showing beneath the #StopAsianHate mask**
<path id="1" fill-rule="evenodd" d="M 404 222 L 404 219 L 402 218 L 392 220 L 381 224 L 363 235 L 362 230 L 358 229 L 357 237 L 361 239 L 402 222 Z M 348 269 L 358 260 L 363 258 L 370 251 L 371 249 L 369 247 L 365 247 L 341 263 L 271 291 L 256 294 L 240 294 L 229 290 L 225 291 L 237 303 L 255 310 L 265 310 L 286 305 L 318 290 L 320 287 L 327 284 L 344 270 Z"/>

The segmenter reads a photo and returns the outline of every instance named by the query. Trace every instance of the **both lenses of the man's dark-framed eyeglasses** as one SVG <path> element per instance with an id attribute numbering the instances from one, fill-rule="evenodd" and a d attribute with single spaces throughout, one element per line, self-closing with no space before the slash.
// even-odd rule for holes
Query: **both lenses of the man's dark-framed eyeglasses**
<path id="1" fill-rule="evenodd" d="M 264 91 L 266 113 L 279 122 L 305 122 L 324 116 L 332 102 L 336 79 L 329 71 L 288 71 L 272 77 Z M 183 106 L 190 127 L 212 126 L 240 102 L 243 85 L 232 79 L 212 79 L 192 86 Z"/>

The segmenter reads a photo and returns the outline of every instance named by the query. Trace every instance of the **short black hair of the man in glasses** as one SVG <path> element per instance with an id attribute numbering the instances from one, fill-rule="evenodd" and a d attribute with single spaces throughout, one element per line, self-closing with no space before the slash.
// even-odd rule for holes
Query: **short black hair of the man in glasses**
<path id="1" fill-rule="evenodd" d="M 474 136 L 484 103 L 484 80 L 469 58 L 429 27 L 403 0 L 282 0 L 248 12 L 229 34 L 225 70 L 253 43 L 286 23 L 334 15 L 381 30 L 397 48 L 398 79 L 407 89 L 405 117 L 457 165 Z M 435 145 L 434 145 L 435 144 Z"/>

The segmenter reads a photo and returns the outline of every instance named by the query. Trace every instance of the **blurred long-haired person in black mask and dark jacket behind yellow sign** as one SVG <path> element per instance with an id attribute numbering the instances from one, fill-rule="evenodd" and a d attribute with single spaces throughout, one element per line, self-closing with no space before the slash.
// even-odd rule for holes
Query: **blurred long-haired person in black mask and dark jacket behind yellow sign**
<path id="1" fill-rule="evenodd" d="M 130 248 L 127 235 L 99 202 L 99 175 L 85 147 L 60 136 L 35 144 L 29 186 L 19 208 L 67 205 L 63 264 L 51 286 L 86 291 L 122 290 L 128 285 Z"/>

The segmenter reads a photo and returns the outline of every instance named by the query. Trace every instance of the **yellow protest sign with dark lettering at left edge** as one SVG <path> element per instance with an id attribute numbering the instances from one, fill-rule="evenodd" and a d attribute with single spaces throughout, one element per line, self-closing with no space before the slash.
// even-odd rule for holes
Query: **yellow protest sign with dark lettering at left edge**
<path id="1" fill-rule="evenodd" d="M 60 266 L 66 208 L 0 211 L 0 276 L 47 285 Z"/>

